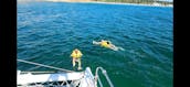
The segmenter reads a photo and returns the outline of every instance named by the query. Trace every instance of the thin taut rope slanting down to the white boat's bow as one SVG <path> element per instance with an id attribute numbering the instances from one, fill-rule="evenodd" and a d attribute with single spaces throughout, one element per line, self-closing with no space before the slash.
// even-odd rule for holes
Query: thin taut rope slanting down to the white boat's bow
<path id="1" fill-rule="evenodd" d="M 43 66 L 43 67 L 49 67 L 49 68 L 53 68 L 53 69 L 57 69 L 57 70 L 63 70 L 63 72 L 74 72 L 74 70 L 63 69 L 63 68 L 53 67 L 53 66 L 43 65 L 43 64 L 33 63 L 33 62 L 23 61 L 23 59 L 17 59 L 17 61 L 19 61 L 19 62 L 23 62 L 23 63 L 28 63 L 28 64 L 39 65 L 39 66 Z"/>

